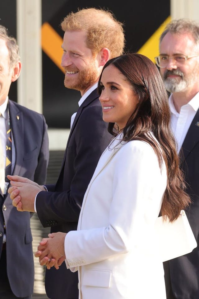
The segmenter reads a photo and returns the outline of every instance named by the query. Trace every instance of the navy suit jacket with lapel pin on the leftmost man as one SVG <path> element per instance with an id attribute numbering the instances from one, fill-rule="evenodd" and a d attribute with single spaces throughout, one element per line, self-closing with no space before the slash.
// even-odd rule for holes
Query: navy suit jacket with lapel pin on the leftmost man
<path id="1" fill-rule="evenodd" d="M 12 136 L 16 150 L 13 175 L 29 178 L 38 184 L 46 181 L 49 141 L 44 116 L 8 101 Z M 8 186 L 9 187 L 9 186 Z M 7 193 L 0 190 L 0 254 L 3 242 L 3 219 L 6 224 L 7 276 L 16 297 L 33 293 L 34 261 L 30 212 L 18 212 Z"/>

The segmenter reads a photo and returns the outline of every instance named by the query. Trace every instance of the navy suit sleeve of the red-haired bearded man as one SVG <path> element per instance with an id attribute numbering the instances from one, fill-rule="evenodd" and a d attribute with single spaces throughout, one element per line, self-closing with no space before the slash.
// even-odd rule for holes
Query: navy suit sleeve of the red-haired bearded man
<path id="1" fill-rule="evenodd" d="M 49 220 L 56 221 L 56 225 L 78 221 L 86 188 L 110 139 L 101 107 L 85 108 L 76 125 L 76 149 L 71 149 L 73 159 L 68 161 L 73 163 L 74 171 L 70 188 L 64 192 L 43 191 L 37 195 L 36 210 L 44 227 L 49 226 L 46 224 Z"/>

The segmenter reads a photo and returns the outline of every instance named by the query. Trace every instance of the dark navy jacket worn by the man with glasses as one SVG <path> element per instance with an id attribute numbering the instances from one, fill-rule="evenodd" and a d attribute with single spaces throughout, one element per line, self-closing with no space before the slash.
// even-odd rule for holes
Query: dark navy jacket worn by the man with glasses
<path id="1" fill-rule="evenodd" d="M 170 282 L 173 294 L 178 299 L 199 298 L 199 109 L 189 127 L 182 145 L 181 167 L 185 174 L 187 193 L 192 204 L 187 209 L 187 218 L 197 241 L 197 248 L 189 254 L 169 262 Z M 168 273 L 165 273 L 167 277 Z"/>

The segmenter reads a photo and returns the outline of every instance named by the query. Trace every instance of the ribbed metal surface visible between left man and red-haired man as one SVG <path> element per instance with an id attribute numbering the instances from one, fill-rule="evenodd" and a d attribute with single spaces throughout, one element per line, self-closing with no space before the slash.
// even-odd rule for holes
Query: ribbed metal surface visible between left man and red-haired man
<path id="1" fill-rule="evenodd" d="M 56 183 L 59 171 L 62 164 L 64 151 L 50 151 L 49 156 L 49 165 L 47 171 L 47 184 Z M 37 214 L 35 213 L 30 221 L 32 236 L 33 236 L 33 253 L 37 251 L 37 246 L 42 238 L 46 238 L 50 232 L 50 228 L 43 228 L 41 225 Z M 39 259 L 35 258 L 34 256 L 34 263 L 35 263 L 35 285 L 34 285 L 34 297 L 37 294 L 45 294 L 45 287 L 44 287 L 44 277 L 45 277 L 45 267 L 39 265 Z M 47 298 L 47 297 L 46 297 Z"/>

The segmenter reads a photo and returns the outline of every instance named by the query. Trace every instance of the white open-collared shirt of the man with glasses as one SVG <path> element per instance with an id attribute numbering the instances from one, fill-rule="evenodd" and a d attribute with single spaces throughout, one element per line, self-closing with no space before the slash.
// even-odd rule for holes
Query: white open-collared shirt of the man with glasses
<path id="1" fill-rule="evenodd" d="M 171 129 L 177 140 L 179 153 L 185 136 L 187 135 L 187 131 L 199 109 L 199 92 L 191 99 L 191 101 L 181 107 L 180 113 L 175 109 L 172 94 L 169 97 L 169 106 L 171 109 Z"/>

